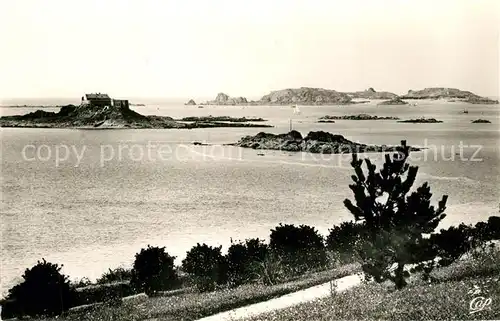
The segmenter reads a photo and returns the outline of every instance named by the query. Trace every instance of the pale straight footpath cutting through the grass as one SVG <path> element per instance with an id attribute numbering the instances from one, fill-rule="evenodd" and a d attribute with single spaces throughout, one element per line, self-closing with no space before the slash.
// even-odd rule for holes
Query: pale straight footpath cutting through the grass
<path id="1" fill-rule="evenodd" d="M 349 275 L 335 280 L 337 292 L 347 290 L 361 283 L 362 278 L 359 275 Z M 330 282 L 323 283 L 311 288 L 300 290 L 294 293 L 283 295 L 264 302 L 251 304 L 245 307 L 221 312 L 209 317 L 199 319 L 198 321 L 229 321 L 245 317 L 259 315 L 265 312 L 284 309 L 299 303 L 324 298 L 330 295 Z"/>

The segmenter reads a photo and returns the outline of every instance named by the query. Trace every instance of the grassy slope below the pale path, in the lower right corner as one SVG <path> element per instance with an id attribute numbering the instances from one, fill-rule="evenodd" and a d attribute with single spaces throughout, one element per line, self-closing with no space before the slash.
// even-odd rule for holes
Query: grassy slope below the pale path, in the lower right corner
<path id="1" fill-rule="evenodd" d="M 499 250 L 472 255 L 434 271 L 433 277 L 432 283 L 416 281 L 400 291 L 388 283 L 367 283 L 247 321 L 500 319 Z M 475 288 L 481 294 L 470 293 Z M 470 302 L 477 296 L 491 298 L 490 309 L 470 314 Z"/>

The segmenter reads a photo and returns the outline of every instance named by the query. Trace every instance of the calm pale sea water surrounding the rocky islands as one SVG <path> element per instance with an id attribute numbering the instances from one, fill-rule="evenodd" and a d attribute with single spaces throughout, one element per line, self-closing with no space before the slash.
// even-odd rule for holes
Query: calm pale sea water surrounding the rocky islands
<path id="1" fill-rule="evenodd" d="M 462 113 L 465 107 L 469 114 Z M 431 185 L 435 203 L 449 195 L 442 226 L 498 215 L 498 106 L 323 106 L 302 107 L 300 115 L 290 107 L 157 104 L 135 109 L 172 117 L 263 117 L 275 125 L 264 130 L 273 133 L 287 131 L 292 117 L 294 129 L 303 134 L 324 130 L 388 145 L 406 139 L 430 147 L 413 154 L 412 163 L 420 166 L 418 183 Z M 31 111 L 0 108 L 2 115 Z M 315 122 L 323 115 L 357 113 L 426 116 L 444 123 Z M 492 124 L 470 123 L 477 118 Z M 197 242 L 227 249 L 230 238 L 267 238 L 280 222 L 310 224 L 327 233 L 332 225 L 351 220 L 342 204 L 351 197 L 348 155 L 264 151 L 259 156 L 236 147 L 189 145 L 231 143 L 262 130 L 0 129 L 1 291 L 41 258 L 64 264 L 71 279 L 93 279 L 108 268 L 130 266 L 148 244 L 166 246 L 180 262 Z M 370 157 L 382 161 L 380 154 Z"/>

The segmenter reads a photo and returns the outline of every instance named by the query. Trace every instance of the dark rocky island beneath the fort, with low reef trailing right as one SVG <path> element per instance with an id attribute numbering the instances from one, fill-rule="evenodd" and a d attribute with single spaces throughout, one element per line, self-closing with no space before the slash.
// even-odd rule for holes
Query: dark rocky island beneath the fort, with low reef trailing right
<path id="1" fill-rule="evenodd" d="M 176 121 L 167 116 L 144 116 L 127 106 L 67 105 L 59 112 L 35 112 L 0 117 L 0 127 L 39 128 L 208 128 L 208 127 L 272 127 L 238 119 L 193 119 Z"/>

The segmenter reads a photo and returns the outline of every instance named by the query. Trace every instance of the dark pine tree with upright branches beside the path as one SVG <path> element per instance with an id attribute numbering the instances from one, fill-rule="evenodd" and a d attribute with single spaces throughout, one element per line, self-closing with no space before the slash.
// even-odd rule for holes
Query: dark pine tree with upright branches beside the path
<path id="1" fill-rule="evenodd" d="M 433 259 L 423 234 L 432 233 L 445 217 L 448 199 L 444 195 L 436 209 L 431 206 L 432 194 L 427 183 L 410 193 L 418 167 L 406 163 L 409 153 L 410 147 L 401 141 L 392 158 L 385 155 L 385 163 L 378 172 L 365 159 L 366 176 L 361 167 L 363 160 L 353 154 L 351 166 L 356 175 L 352 176 L 354 184 L 349 187 L 356 205 L 344 200 L 356 221 L 364 221 L 366 225 L 363 246 L 359 249 L 364 272 L 377 282 L 391 280 L 398 289 L 406 285 L 405 265 Z"/>

